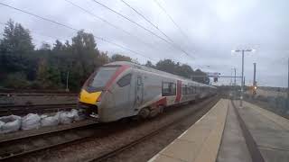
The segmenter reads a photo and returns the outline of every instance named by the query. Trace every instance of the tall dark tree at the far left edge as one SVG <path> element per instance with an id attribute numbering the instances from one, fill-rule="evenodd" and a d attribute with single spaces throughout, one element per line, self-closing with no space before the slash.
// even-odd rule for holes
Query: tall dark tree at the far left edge
<path id="1" fill-rule="evenodd" d="M 36 62 L 33 58 L 34 45 L 30 31 L 20 23 L 9 20 L 0 40 L 0 76 L 22 72 L 23 78 L 33 79 Z"/>

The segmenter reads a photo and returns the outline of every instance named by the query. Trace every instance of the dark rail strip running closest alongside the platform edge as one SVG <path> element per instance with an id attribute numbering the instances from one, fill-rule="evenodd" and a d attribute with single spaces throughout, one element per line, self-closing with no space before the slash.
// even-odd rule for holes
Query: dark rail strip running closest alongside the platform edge
<path id="1" fill-rule="evenodd" d="M 181 121 L 184 121 L 185 119 L 187 119 L 189 117 L 194 117 L 195 121 L 198 121 L 218 101 L 219 101 L 219 99 L 212 98 L 212 99 L 209 99 L 209 101 L 205 101 L 203 103 L 200 103 L 198 109 L 196 109 L 195 111 L 193 111 L 191 113 L 188 113 L 185 116 L 182 116 L 182 118 L 178 118 L 177 120 L 172 121 L 172 122 L 164 125 L 163 127 L 157 129 L 157 130 L 154 130 L 152 132 L 147 133 L 146 135 L 144 135 L 143 137 L 141 137 L 139 139 L 136 139 L 136 140 L 134 140 L 134 141 L 122 146 L 122 147 L 119 147 L 119 148 L 116 148 L 112 151 L 109 151 L 109 152 L 107 152 L 107 153 L 105 153 L 99 157 L 92 157 L 92 158 L 86 160 L 86 162 L 106 161 L 107 159 L 109 159 L 111 157 L 117 156 L 118 154 L 120 154 L 123 151 L 126 151 L 130 148 L 135 147 L 135 145 L 138 145 L 138 144 L 144 142 L 145 140 L 152 139 L 154 136 L 162 133 L 164 130 L 168 129 L 169 127 L 172 127 L 173 125 L 176 125 L 176 124 L 180 123 Z M 201 109 L 200 107 L 207 107 L 207 108 Z M 199 113 L 197 114 L 197 112 L 199 112 Z"/>

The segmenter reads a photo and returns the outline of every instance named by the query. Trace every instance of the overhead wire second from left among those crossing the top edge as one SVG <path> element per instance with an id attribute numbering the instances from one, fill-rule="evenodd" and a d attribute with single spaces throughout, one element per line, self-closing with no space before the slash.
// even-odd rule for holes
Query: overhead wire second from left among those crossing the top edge
<path id="1" fill-rule="evenodd" d="M 95 2 L 95 3 L 97 3 L 97 4 L 99 4 L 99 5 L 101 5 L 101 6 L 103 6 L 103 7 L 105 7 L 105 8 L 107 8 L 107 10 L 109 10 L 109 11 L 111 11 L 111 12 L 113 12 L 113 13 L 121 16 L 121 17 L 123 17 L 124 19 L 126 19 L 126 20 L 129 21 L 130 23 L 134 23 L 136 26 L 142 28 L 144 31 L 148 31 L 149 33 L 151 33 L 151 34 L 154 35 L 155 37 L 159 38 L 160 40 L 163 40 L 163 41 L 165 41 L 166 43 L 170 44 L 174 49 L 179 49 L 179 50 L 181 50 L 183 53 L 185 53 L 186 55 L 190 56 L 190 54 L 187 53 L 185 50 L 181 49 L 180 47 L 176 47 L 174 44 L 172 44 L 172 42 L 170 42 L 170 41 L 168 41 L 168 40 L 166 40 L 166 39 L 163 39 L 163 37 L 157 35 L 156 33 L 154 33 L 154 31 L 151 31 L 151 30 L 145 28 L 143 25 L 141 25 L 141 24 L 139 24 L 139 23 L 136 23 L 135 21 L 129 19 L 129 18 L 128 18 L 127 16 L 125 16 L 124 14 L 120 14 L 120 13 L 118 13 L 116 10 L 108 7 L 108 6 L 105 5 L 105 4 L 101 4 L 100 2 L 98 2 L 98 1 L 96 1 L 96 0 L 92 0 L 92 1 Z"/>

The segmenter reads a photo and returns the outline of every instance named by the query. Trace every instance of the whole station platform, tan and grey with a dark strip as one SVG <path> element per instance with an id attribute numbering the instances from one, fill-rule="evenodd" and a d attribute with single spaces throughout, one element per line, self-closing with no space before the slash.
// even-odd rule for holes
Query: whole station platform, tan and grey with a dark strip
<path id="1" fill-rule="evenodd" d="M 220 99 L 149 161 L 288 162 L 289 120 L 252 103 L 239 108 L 238 101 Z"/>

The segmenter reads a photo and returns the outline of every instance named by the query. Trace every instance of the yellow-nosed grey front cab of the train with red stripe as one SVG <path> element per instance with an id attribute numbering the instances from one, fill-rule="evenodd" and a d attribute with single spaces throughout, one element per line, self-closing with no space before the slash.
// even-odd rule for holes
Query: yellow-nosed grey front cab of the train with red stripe
<path id="1" fill-rule="evenodd" d="M 83 85 L 79 108 L 104 122 L 133 116 L 143 101 L 143 77 L 127 66 L 100 67 Z"/>

